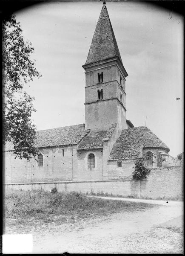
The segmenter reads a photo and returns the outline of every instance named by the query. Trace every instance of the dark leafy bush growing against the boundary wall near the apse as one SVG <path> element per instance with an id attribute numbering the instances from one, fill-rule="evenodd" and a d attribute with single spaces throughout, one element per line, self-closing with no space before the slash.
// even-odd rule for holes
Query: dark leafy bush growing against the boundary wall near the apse
<path id="1" fill-rule="evenodd" d="M 134 180 L 142 180 L 150 173 L 150 169 L 146 166 L 146 156 L 138 158 L 133 168 L 132 177 Z"/>

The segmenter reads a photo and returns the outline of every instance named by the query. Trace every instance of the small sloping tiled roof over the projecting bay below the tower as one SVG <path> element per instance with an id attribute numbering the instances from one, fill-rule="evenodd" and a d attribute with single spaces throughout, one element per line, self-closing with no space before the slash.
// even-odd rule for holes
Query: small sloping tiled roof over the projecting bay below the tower
<path id="1" fill-rule="evenodd" d="M 80 142 L 78 149 L 102 148 L 107 131 L 90 131 L 90 133 Z"/>

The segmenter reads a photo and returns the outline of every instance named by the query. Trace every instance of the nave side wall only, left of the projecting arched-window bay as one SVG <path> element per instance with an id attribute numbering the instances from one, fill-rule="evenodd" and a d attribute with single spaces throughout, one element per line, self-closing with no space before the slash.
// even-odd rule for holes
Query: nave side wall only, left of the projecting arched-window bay
<path id="1" fill-rule="evenodd" d="M 62 150 L 64 150 L 64 156 Z M 72 180 L 72 152 L 72 146 L 40 148 L 40 154 L 43 155 L 43 166 L 38 166 L 33 158 L 29 162 L 26 159 L 15 159 L 13 151 L 6 151 L 3 155 L 5 182 Z"/>

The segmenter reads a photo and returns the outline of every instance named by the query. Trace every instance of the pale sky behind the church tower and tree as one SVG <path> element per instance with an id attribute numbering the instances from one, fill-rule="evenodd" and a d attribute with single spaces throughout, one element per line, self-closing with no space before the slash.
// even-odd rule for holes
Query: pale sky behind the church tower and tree
<path id="1" fill-rule="evenodd" d="M 183 17 L 146 2 L 111 1 L 106 7 L 128 73 L 126 118 L 134 126 L 146 122 L 176 157 L 184 136 Z M 50 1 L 15 12 L 42 74 L 25 87 L 35 98 L 37 130 L 85 123 L 82 65 L 101 9 L 100 1 Z"/>

